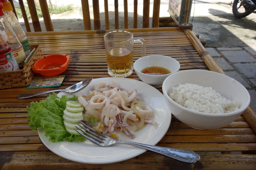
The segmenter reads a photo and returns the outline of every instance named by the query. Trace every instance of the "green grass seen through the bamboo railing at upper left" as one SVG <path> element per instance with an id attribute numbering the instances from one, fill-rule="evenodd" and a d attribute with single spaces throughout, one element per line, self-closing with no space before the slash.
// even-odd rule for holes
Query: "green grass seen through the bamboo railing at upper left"
<path id="1" fill-rule="evenodd" d="M 25 6 L 25 11 L 26 11 L 26 14 L 27 14 L 27 18 L 31 18 L 28 6 L 26 6 L 26 5 L 24 5 L 24 6 Z M 62 13 L 62 12 L 65 12 L 65 11 L 70 11 L 70 10 L 73 9 L 72 5 L 60 6 L 59 7 L 59 6 L 56 6 L 56 5 L 51 6 L 50 4 L 48 5 L 48 8 L 49 8 L 50 14 L 59 14 L 59 13 Z M 21 8 L 20 7 L 15 7 L 15 10 L 16 10 L 16 13 L 17 13 L 17 17 L 22 18 Z M 38 18 L 43 17 L 40 7 L 36 6 L 36 12 L 37 12 Z"/>

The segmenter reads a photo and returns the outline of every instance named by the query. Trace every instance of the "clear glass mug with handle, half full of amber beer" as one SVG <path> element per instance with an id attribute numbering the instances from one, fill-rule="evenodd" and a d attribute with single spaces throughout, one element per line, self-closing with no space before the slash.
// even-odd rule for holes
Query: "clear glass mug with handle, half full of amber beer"
<path id="1" fill-rule="evenodd" d="M 133 72 L 133 43 L 142 44 L 141 57 L 145 56 L 146 43 L 133 38 L 129 31 L 116 30 L 104 35 L 108 72 L 112 77 L 127 77 Z"/>

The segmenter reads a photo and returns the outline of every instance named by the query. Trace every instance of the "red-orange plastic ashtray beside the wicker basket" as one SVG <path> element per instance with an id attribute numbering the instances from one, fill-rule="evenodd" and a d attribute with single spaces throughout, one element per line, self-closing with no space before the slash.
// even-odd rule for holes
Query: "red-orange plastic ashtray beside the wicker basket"
<path id="1" fill-rule="evenodd" d="M 69 62 L 67 54 L 45 55 L 34 63 L 32 70 L 42 76 L 57 76 L 67 70 Z"/>

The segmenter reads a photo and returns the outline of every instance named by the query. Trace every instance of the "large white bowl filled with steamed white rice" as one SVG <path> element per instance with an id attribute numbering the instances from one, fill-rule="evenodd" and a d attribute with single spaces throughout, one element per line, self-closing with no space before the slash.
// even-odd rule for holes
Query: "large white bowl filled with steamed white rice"
<path id="1" fill-rule="evenodd" d="M 203 92 L 201 91 L 201 87 L 199 87 L 196 90 L 198 91 L 197 94 L 192 97 L 189 94 L 192 94 L 194 90 L 191 90 L 190 87 L 185 87 L 182 88 L 181 95 L 174 94 L 176 99 L 169 96 L 173 88 L 177 88 L 179 85 L 185 85 L 186 83 L 205 87 L 209 91 Z M 185 93 L 185 89 L 188 93 Z M 243 85 L 233 78 L 213 71 L 178 71 L 164 80 L 162 90 L 171 113 L 181 122 L 195 129 L 217 129 L 225 127 L 237 119 L 250 103 L 249 92 Z M 214 92 L 212 90 L 215 90 L 215 92 L 226 99 L 215 99 L 215 101 L 213 100 L 215 103 L 210 101 L 210 98 L 213 97 L 211 96 L 213 95 L 212 92 Z M 203 98 L 199 97 L 199 94 Z M 218 94 L 214 95 L 218 96 Z M 192 101 L 189 101 L 191 98 Z M 178 104 L 176 102 L 181 103 Z M 210 104 L 212 102 L 214 104 Z M 206 106 L 203 106 L 204 104 Z"/>

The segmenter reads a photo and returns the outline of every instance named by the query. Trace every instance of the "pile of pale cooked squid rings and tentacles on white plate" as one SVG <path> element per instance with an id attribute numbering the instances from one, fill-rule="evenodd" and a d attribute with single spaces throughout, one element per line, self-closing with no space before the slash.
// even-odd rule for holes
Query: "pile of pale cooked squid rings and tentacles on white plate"
<path id="1" fill-rule="evenodd" d="M 98 82 L 89 94 L 79 94 L 78 101 L 85 108 L 85 121 L 103 134 L 123 132 L 131 139 L 133 131 L 144 124 L 157 126 L 150 120 L 153 109 L 142 103 L 136 89 L 127 92 L 115 82 Z"/>

